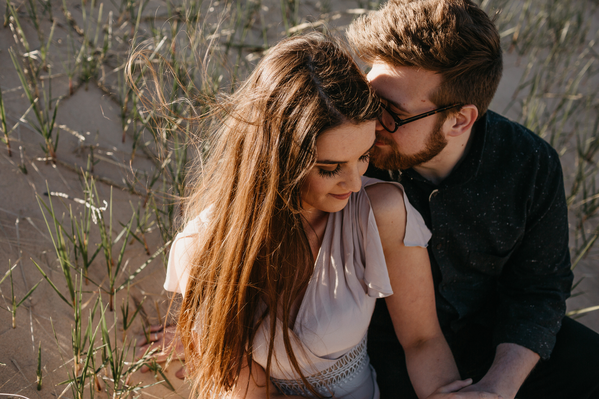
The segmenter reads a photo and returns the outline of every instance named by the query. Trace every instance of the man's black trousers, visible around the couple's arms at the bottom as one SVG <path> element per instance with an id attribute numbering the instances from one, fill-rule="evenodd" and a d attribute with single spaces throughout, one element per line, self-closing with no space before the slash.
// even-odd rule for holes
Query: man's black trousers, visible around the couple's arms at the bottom
<path id="1" fill-rule="evenodd" d="M 418 399 L 406 369 L 384 299 L 377 300 L 368 329 L 368 355 L 377 372 L 381 399 Z M 382 334 L 383 331 L 386 333 Z M 479 381 L 495 357 L 492 331 L 470 325 L 450 343 L 463 379 Z M 391 337 L 391 338 L 390 338 Z M 549 360 L 541 360 L 516 395 L 517 399 L 599 399 L 599 334 L 565 317 Z"/>

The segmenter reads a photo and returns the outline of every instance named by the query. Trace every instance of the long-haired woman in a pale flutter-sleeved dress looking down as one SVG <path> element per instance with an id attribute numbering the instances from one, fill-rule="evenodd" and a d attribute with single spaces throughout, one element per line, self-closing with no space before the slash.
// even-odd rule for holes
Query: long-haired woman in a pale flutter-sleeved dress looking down
<path id="1" fill-rule="evenodd" d="M 378 399 L 379 297 L 419 397 L 469 385 L 438 327 L 430 233 L 401 185 L 361 178 L 379 102 L 351 57 L 317 33 L 286 39 L 229 104 L 165 282 L 184 294 L 195 395 Z"/>

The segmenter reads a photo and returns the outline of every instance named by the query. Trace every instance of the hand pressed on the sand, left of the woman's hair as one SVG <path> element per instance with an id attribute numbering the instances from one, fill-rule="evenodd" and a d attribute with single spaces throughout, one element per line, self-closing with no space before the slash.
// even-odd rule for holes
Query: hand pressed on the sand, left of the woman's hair
<path id="1" fill-rule="evenodd" d="M 151 325 L 147 336 L 140 337 L 137 342 L 139 349 L 137 350 L 136 356 L 138 358 L 141 358 L 146 351 L 152 351 L 153 349 L 158 348 L 162 350 L 154 354 L 154 360 L 158 363 L 167 361 L 168 357 L 171 355 L 171 351 L 168 349 L 173 342 L 177 327 L 174 325 L 169 325 L 164 330 L 162 327 L 162 325 Z M 181 361 L 185 360 L 185 351 L 180 338 L 177 338 L 177 342 L 174 343 L 172 351 L 174 359 L 179 359 Z M 145 365 L 140 369 L 142 373 L 146 373 L 148 370 L 150 369 Z M 175 376 L 177 376 L 177 378 L 183 379 L 185 377 L 185 367 L 181 367 L 175 373 Z"/>

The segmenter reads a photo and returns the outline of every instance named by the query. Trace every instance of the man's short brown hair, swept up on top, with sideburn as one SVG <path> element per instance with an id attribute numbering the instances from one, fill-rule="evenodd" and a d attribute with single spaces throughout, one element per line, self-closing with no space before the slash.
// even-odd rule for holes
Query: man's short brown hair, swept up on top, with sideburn
<path id="1" fill-rule="evenodd" d="M 501 80 L 500 36 L 470 0 L 389 0 L 347 29 L 367 63 L 423 68 L 441 75 L 431 93 L 437 106 L 474 104 L 486 112 Z"/>

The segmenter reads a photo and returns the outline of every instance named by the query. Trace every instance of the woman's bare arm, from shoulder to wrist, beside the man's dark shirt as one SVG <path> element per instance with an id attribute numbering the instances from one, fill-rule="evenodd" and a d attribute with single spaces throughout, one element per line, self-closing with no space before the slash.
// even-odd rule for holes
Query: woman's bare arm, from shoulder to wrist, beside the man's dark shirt
<path id="1" fill-rule="evenodd" d="M 395 333 L 406 353 L 410 380 L 419 398 L 459 379 L 458 368 L 438 324 L 426 248 L 405 246 L 406 206 L 400 188 L 366 188 L 379 229 L 394 294 L 386 297 Z"/>

